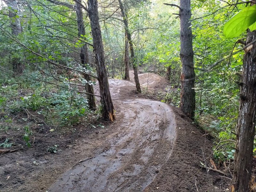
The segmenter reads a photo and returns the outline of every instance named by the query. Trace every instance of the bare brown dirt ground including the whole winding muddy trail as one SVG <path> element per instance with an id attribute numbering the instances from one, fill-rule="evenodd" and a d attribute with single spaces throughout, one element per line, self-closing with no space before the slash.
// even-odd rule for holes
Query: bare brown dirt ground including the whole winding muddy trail
<path id="1" fill-rule="evenodd" d="M 164 77 L 139 78 L 144 94 L 132 81 L 109 79 L 114 123 L 79 124 L 65 134 L 38 126 L 31 148 L 20 132 L 1 132 L 17 150 L 0 155 L 0 191 L 223 191 L 225 178 L 199 166 L 211 155 L 211 140 L 179 108 L 154 100 L 168 86 Z M 46 152 L 54 145 L 57 153 Z"/>

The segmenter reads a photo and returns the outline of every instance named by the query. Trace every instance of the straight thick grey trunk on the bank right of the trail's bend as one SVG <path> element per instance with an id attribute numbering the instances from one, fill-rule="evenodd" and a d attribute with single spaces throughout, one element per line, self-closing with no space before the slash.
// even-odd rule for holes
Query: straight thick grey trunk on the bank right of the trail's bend
<path id="1" fill-rule="evenodd" d="M 190 118 L 195 115 L 195 71 L 193 63 L 193 46 L 190 11 L 190 0 L 180 0 L 180 60 L 182 65 L 181 72 L 181 91 L 180 108 Z"/>

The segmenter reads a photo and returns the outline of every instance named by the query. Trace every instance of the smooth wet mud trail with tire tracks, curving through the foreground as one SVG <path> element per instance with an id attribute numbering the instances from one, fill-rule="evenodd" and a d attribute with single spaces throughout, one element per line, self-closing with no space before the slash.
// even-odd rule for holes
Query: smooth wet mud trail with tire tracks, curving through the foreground
<path id="1" fill-rule="evenodd" d="M 49 192 L 143 191 L 169 160 L 176 138 L 172 109 L 153 100 L 121 100 L 120 89 L 131 82 L 109 80 L 109 85 L 117 116 L 123 116 L 103 141 L 109 147 L 67 171 Z"/>

